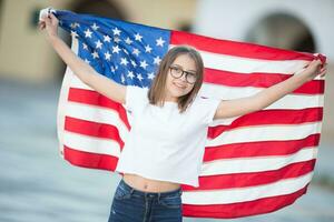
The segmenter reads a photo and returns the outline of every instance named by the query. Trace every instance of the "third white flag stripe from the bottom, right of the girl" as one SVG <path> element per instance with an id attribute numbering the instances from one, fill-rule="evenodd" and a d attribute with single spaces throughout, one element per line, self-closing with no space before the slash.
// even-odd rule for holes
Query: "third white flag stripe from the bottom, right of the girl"
<path id="1" fill-rule="evenodd" d="M 206 145 L 216 147 L 239 142 L 299 140 L 314 133 L 321 133 L 321 122 L 238 128 L 223 132 L 215 139 L 208 139 Z"/>

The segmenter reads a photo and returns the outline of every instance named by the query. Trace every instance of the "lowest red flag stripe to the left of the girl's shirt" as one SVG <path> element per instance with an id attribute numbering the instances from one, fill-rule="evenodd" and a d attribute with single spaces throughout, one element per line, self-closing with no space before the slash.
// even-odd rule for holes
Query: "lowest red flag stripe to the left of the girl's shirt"
<path id="1" fill-rule="evenodd" d="M 115 171 L 118 162 L 117 157 L 91 153 L 71 149 L 63 145 L 63 158 L 73 165 Z"/>

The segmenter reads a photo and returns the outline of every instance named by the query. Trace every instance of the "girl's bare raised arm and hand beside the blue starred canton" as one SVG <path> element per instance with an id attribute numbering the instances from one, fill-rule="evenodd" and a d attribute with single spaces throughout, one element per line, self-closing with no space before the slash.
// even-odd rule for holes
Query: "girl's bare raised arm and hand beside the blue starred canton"
<path id="1" fill-rule="evenodd" d="M 126 87 L 97 73 L 92 67 L 77 57 L 58 37 L 58 19 L 52 13 L 42 16 L 39 27 L 40 30 L 46 29 L 47 39 L 55 51 L 82 82 L 107 98 L 125 103 Z"/>

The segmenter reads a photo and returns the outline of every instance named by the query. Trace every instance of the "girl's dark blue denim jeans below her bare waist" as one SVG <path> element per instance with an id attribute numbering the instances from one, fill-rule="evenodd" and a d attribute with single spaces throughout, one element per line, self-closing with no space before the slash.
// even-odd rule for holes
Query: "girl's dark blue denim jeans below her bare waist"
<path id="1" fill-rule="evenodd" d="M 179 222 L 183 221 L 181 189 L 168 192 L 135 190 L 120 180 L 108 222 Z"/>

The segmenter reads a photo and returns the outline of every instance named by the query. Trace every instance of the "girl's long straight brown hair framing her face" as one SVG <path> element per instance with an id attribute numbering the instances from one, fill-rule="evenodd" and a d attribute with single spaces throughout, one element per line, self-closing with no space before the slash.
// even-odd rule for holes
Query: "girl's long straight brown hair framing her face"
<path id="1" fill-rule="evenodd" d="M 199 52 L 189 46 L 178 46 L 171 48 L 164 59 L 160 62 L 157 74 L 151 83 L 151 87 L 148 91 L 148 99 L 150 104 L 157 104 L 163 107 L 165 103 L 165 93 L 166 93 L 166 79 L 168 74 L 168 70 L 170 64 L 175 61 L 175 59 L 180 54 L 188 54 L 196 64 L 196 74 L 197 79 L 194 83 L 191 91 L 183 97 L 178 98 L 178 109 L 181 112 L 186 111 L 188 105 L 193 102 L 196 94 L 198 93 L 202 82 L 203 82 L 203 72 L 204 64 Z"/>

